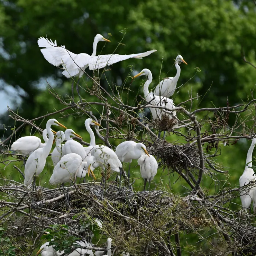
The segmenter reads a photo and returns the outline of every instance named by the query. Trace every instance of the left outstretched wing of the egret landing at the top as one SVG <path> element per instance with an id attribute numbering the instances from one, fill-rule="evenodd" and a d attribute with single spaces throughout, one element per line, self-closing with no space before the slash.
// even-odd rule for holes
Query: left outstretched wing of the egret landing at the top
<path id="1" fill-rule="evenodd" d="M 41 49 L 42 54 L 45 59 L 54 66 L 59 66 L 66 63 L 69 59 L 74 59 L 77 54 L 68 51 L 65 45 L 57 46 L 56 40 L 53 41 L 47 38 L 40 37 L 37 40 L 39 47 L 44 47 Z"/>

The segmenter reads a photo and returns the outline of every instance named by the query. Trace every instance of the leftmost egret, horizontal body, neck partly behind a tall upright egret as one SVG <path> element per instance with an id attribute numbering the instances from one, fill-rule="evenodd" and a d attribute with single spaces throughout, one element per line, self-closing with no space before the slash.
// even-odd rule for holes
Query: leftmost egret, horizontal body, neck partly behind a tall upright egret
<path id="1" fill-rule="evenodd" d="M 56 133 L 56 131 L 52 132 Z M 38 148 L 43 148 L 47 141 L 47 130 L 44 129 L 43 131 L 43 139 L 45 143 L 42 143 L 41 139 L 36 136 L 24 136 L 19 139 L 17 139 L 15 142 L 11 145 L 11 150 L 17 151 L 18 153 L 27 156 L 33 153 Z"/>

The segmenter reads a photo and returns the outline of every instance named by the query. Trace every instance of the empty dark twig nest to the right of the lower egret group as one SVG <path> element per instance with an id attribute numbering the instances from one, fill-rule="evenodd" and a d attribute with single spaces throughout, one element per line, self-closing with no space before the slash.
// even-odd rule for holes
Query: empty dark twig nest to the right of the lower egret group
<path id="1" fill-rule="evenodd" d="M 198 169 L 200 157 L 196 145 L 171 144 L 165 140 L 155 140 L 149 143 L 147 150 L 161 161 L 159 166 L 170 170 Z"/>

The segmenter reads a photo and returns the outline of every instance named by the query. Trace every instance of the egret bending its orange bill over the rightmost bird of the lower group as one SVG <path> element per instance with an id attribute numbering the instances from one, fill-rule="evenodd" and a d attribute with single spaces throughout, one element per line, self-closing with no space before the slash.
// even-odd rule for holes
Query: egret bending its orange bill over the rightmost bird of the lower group
<path id="1" fill-rule="evenodd" d="M 146 146 L 142 143 L 136 143 L 132 140 L 124 141 L 116 147 L 116 154 L 119 160 L 121 162 L 130 163 L 128 170 L 128 184 L 130 184 L 131 161 L 132 159 L 140 158 L 141 153 L 145 153 L 148 155 Z"/>

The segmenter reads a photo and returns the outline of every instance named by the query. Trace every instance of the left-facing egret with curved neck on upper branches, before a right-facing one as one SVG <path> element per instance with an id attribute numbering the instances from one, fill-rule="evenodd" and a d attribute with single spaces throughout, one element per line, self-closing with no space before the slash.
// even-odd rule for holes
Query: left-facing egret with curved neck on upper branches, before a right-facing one
<path id="1" fill-rule="evenodd" d="M 150 70 L 147 68 L 144 68 L 139 74 L 135 75 L 133 78 L 136 78 L 141 75 L 146 75 L 147 76 L 147 81 L 144 84 L 143 90 L 144 90 L 144 96 L 147 102 L 150 101 L 150 105 L 153 106 L 161 106 L 163 108 L 168 108 L 172 109 L 175 108 L 173 104 L 173 100 L 162 97 L 162 96 L 156 96 L 152 92 L 149 93 L 148 86 L 152 82 L 152 73 Z M 159 120 L 162 119 L 163 116 L 168 116 L 169 119 L 174 119 L 176 117 L 176 112 L 175 111 L 169 111 L 166 109 L 161 109 L 161 108 L 149 108 L 153 119 L 158 118 Z"/>

